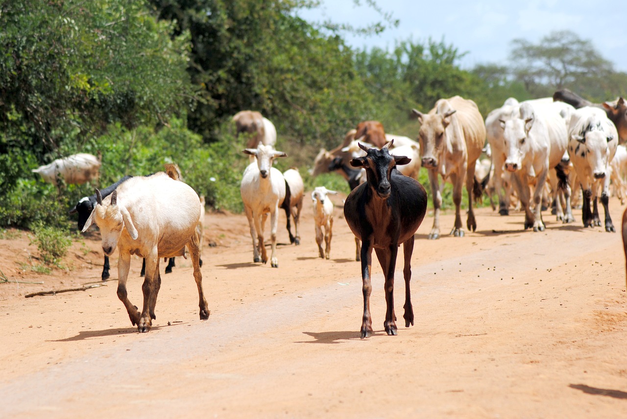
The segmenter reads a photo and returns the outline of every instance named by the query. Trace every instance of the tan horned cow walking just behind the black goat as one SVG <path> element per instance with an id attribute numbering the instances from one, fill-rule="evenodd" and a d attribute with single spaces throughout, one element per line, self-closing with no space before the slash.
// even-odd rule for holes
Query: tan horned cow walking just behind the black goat
<path id="1" fill-rule="evenodd" d="M 475 161 L 481 156 L 485 141 L 485 126 L 477 104 L 470 99 L 454 96 L 440 99 L 428 114 L 416 109 L 413 113 L 421 123 L 418 134 L 422 165 L 429 171 L 429 184 L 433 191 L 433 228 L 429 239 L 440 237 L 440 207 L 442 195 L 438 183 L 438 173 L 453 183 L 453 203 L 455 203 L 455 226 L 451 235 L 462 237 L 461 228 L 461 186 L 466 181 L 468 191 L 468 230 L 477 230 L 473 211 L 473 199 L 480 199 L 483 191 L 475 180 Z"/>

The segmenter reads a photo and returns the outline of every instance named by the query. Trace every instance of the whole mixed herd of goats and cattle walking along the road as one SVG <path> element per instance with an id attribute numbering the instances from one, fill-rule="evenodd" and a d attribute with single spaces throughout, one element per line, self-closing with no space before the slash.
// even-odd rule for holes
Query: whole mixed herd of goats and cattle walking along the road
<path id="1" fill-rule="evenodd" d="M 398 248 L 403 244 L 406 284 L 403 318 L 406 326 L 413 325 L 409 293 L 411 255 L 414 233 L 423 221 L 427 207 L 426 191 L 416 180 L 421 166 L 428 170 L 435 210 L 429 239 L 440 236 L 444 181 L 453 184 L 455 225 L 450 234 L 454 236 L 464 235 L 460 210 L 463 184 L 468 192 L 468 230 L 477 228 L 473 201 L 481 198 L 484 191 L 494 191 L 498 195 L 502 215 L 507 215 L 512 196 L 515 196 L 525 212 L 525 229 L 543 231 L 543 198 L 555 203 L 558 220 L 570 223 L 574 221 L 571 195 L 573 200 L 581 199 L 578 198 L 581 190 L 583 225 L 601 226 L 597 206 L 600 196 L 605 211 L 605 229 L 615 231 L 608 201 L 610 179 L 614 179 L 619 198 L 625 195 L 621 172 L 627 164 L 627 151 L 619 146 L 619 142 L 627 141 L 627 104 L 623 98 L 593 104 L 567 90 L 556 92 L 554 98 L 522 103 L 510 98 L 488 114 L 484 123 L 472 100 L 454 96 L 438 100 L 428 113 L 413 109 L 413 115 L 421 124 L 418 143 L 407 137 L 386 134 L 377 121 L 364 121 L 350 130 L 337 148 L 320 150 L 310 171 L 314 176 L 337 171 L 347 179 L 352 190 L 344 203 L 344 216 L 356 237 L 356 260 L 361 260 L 362 338 L 372 335 L 369 296 L 373 249 L 385 278 L 387 311 L 384 327 L 388 335 L 396 335 L 394 270 Z M 253 241 L 253 261 L 268 261 L 263 231 L 270 214 L 270 265 L 278 268 L 278 210 L 285 210 L 290 241 L 298 245 L 303 181 L 295 169 L 281 173 L 273 168 L 273 159 L 286 154 L 274 148 L 277 131 L 268 119 L 255 111 L 241 111 L 233 121 L 238 134 L 248 134 L 248 148 L 243 152 L 249 154 L 250 164 L 244 171 L 240 191 Z M 486 139 L 492 159 L 484 176 L 476 171 L 485 166 L 479 159 L 482 151 L 487 149 L 483 148 Z M 78 158 L 76 156 L 83 156 L 81 161 L 89 159 L 85 157 L 88 154 L 76 154 L 34 171 L 50 179 L 65 176 L 64 170 L 68 171 L 71 166 L 68 159 Z M 614 156 L 624 163 L 613 164 Z M 100 165 L 100 159 L 93 160 L 93 165 Z M 48 172 L 50 174 L 45 174 Z M 91 178 L 94 170 L 81 168 L 73 172 L 87 173 Z M 73 178 L 71 182 L 80 183 L 80 179 Z M 312 192 L 316 241 L 320 257 L 327 259 L 333 223 L 333 204 L 327 195 L 334 193 L 324 186 Z M 117 295 L 139 331 L 149 331 L 155 318 L 154 308 L 161 285 L 160 258 L 184 255 L 186 249 L 191 255 L 198 285 L 200 318 L 209 316 L 200 271 L 204 220 L 204 199 L 201 199 L 181 181 L 176 165 L 166 165 L 166 172 L 127 177 L 102 191 L 97 189 L 95 195 L 81 199 L 71 210 L 71 213 L 78 213 L 78 226 L 82 231 L 93 224 L 100 228 L 106 270 L 106 276 L 103 270 L 103 280 L 108 278 L 107 256 L 118 248 Z M 291 232 L 291 218 L 295 223 L 295 235 Z M 627 212 L 623 216 L 624 237 L 627 236 L 626 226 Z M 325 248 L 322 247 L 323 238 Z M 623 241 L 627 255 L 627 240 Z M 139 255 L 145 261 L 142 310 L 127 298 L 126 280 L 131 255 Z"/>

